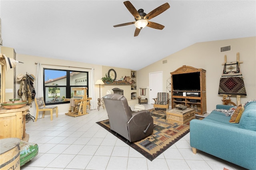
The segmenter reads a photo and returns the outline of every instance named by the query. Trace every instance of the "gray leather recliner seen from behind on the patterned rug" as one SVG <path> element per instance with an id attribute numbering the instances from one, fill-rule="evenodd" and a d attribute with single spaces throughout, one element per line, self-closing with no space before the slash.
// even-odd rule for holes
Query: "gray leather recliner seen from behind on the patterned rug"
<path id="1" fill-rule="evenodd" d="M 106 95 L 103 100 L 111 130 L 130 142 L 146 138 L 153 132 L 153 118 L 149 111 L 132 112 L 126 98 L 119 94 Z"/>

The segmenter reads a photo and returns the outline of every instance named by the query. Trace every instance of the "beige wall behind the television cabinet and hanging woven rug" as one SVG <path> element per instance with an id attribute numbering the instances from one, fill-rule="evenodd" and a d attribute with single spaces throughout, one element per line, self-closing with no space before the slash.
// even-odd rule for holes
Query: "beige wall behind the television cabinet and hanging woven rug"
<path id="1" fill-rule="evenodd" d="M 220 47 L 227 45 L 231 45 L 232 50 L 220 53 Z M 233 62 L 236 61 L 237 52 L 240 53 L 240 61 L 243 61 L 240 69 L 247 96 L 241 96 L 241 103 L 245 103 L 250 99 L 256 99 L 256 37 L 195 43 L 138 70 L 137 85 L 148 87 L 149 73 L 163 71 L 163 89 L 166 92 L 166 80 L 170 78 L 170 72 L 182 65 L 206 69 L 207 112 L 210 113 L 217 104 L 222 104 L 222 95 L 218 95 L 218 87 L 224 67 L 224 55 L 227 55 L 227 62 Z M 167 63 L 163 64 L 163 60 L 167 60 Z M 146 97 L 149 97 L 149 90 L 146 89 Z M 232 101 L 236 103 L 236 95 L 232 96 Z"/>

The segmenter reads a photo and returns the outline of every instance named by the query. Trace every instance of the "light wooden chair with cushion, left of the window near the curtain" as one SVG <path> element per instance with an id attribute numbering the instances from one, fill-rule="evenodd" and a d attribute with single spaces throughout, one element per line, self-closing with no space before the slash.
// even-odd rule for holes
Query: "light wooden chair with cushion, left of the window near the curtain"
<path id="1" fill-rule="evenodd" d="M 51 121 L 52 121 L 52 111 L 53 111 L 53 109 L 56 109 L 56 117 L 58 117 L 58 106 L 45 106 L 43 97 L 35 98 L 35 103 L 36 103 L 36 119 L 35 119 L 35 121 L 37 121 L 38 112 L 40 112 L 40 111 L 43 111 L 42 118 L 44 118 L 45 111 L 50 111 Z"/>

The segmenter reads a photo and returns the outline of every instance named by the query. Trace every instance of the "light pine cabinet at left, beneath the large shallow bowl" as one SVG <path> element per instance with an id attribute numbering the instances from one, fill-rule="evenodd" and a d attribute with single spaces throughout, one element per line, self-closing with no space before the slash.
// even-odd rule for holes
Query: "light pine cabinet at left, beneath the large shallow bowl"
<path id="1" fill-rule="evenodd" d="M 28 141 L 26 134 L 26 114 L 30 106 L 26 105 L 19 109 L 0 109 L 0 139 L 20 138 Z"/>

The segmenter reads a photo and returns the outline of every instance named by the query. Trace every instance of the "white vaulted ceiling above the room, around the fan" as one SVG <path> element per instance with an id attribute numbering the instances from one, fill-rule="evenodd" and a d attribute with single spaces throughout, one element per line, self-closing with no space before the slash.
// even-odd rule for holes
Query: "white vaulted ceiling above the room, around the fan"
<path id="1" fill-rule="evenodd" d="M 170 8 L 134 37 L 124 0 L 1 0 L 3 46 L 16 53 L 139 70 L 197 42 L 256 36 L 256 1 L 134 0 Z M 35 61 L 36 62 L 36 61 Z"/>

